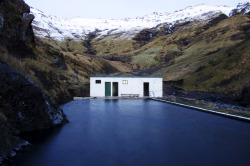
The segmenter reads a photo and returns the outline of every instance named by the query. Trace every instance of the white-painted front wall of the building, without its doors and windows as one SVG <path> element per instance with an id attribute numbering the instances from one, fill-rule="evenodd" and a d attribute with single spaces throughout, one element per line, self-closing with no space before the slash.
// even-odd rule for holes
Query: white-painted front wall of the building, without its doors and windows
<path id="1" fill-rule="evenodd" d="M 96 80 L 101 80 L 101 84 L 96 84 Z M 128 84 L 122 84 L 122 80 L 127 80 Z M 90 77 L 90 96 L 105 96 L 105 82 L 118 82 L 118 96 L 121 94 L 139 94 L 143 97 L 143 83 L 149 83 L 150 97 L 162 97 L 162 78 L 159 77 Z"/>

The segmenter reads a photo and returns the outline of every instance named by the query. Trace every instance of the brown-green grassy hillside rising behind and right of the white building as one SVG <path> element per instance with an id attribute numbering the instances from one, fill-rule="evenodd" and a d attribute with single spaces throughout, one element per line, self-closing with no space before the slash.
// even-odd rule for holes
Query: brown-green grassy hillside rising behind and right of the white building
<path id="1" fill-rule="evenodd" d="M 127 57 L 134 74 L 139 70 L 143 75 L 162 75 L 164 81 L 182 82 L 174 86 L 185 91 L 240 96 L 250 87 L 249 29 L 249 15 L 220 15 L 210 22 L 177 24 L 171 34 L 163 28 L 143 42 L 136 37 L 104 38 L 96 42 L 102 43 L 96 50 L 99 56 Z"/>

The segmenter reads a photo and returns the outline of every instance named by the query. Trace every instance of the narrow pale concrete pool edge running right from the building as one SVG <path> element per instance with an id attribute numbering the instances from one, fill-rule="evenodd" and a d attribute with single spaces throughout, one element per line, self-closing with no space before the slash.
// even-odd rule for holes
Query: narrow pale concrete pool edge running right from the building
<path id="1" fill-rule="evenodd" d="M 205 108 L 201 108 L 201 107 L 195 107 L 195 106 L 190 106 L 190 105 L 186 105 L 186 104 L 171 102 L 171 101 L 167 101 L 167 100 L 163 100 L 163 99 L 159 99 L 159 98 L 150 98 L 150 99 L 155 100 L 155 101 L 168 103 L 168 104 L 181 106 L 181 107 L 185 107 L 185 108 L 191 108 L 194 110 L 203 111 L 203 112 L 207 112 L 207 113 L 211 113 L 211 114 L 215 114 L 215 115 L 220 115 L 220 116 L 224 116 L 224 117 L 228 117 L 228 118 L 232 118 L 232 119 L 236 119 L 236 120 L 250 122 L 250 118 L 243 117 L 243 116 L 238 116 L 238 115 L 228 114 L 228 113 L 224 113 L 224 112 L 209 110 L 209 109 L 205 109 Z"/>

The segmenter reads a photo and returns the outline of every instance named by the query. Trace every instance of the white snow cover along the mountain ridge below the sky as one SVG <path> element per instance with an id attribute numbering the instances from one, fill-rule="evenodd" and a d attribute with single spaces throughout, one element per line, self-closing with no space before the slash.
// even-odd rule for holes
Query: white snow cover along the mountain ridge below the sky
<path id="1" fill-rule="evenodd" d="M 65 38 L 84 39 L 87 34 L 97 31 L 98 35 L 122 33 L 121 37 L 131 37 L 144 28 L 152 28 L 161 23 L 184 22 L 193 19 L 208 19 L 215 13 L 229 15 L 233 7 L 197 5 L 173 13 L 152 13 L 144 17 L 126 19 L 60 18 L 47 16 L 42 11 L 31 8 L 35 16 L 34 32 L 37 36 L 56 40 Z"/>

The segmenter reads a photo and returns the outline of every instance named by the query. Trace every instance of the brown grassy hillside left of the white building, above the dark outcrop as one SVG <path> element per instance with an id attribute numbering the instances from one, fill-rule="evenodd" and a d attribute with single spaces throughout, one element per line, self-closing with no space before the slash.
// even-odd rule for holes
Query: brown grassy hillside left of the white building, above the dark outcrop
<path id="1" fill-rule="evenodd" d="M 88 96 L 90 75 L 131 71 L 121 62 L 110 62 L 66 48 L 67 42 L 36 38 L 35 57 L 15 57 L 3 47 L 0 56 L 4 62 L 28 75 L 58 103 L 69 101 L 73 96 Z"/>

